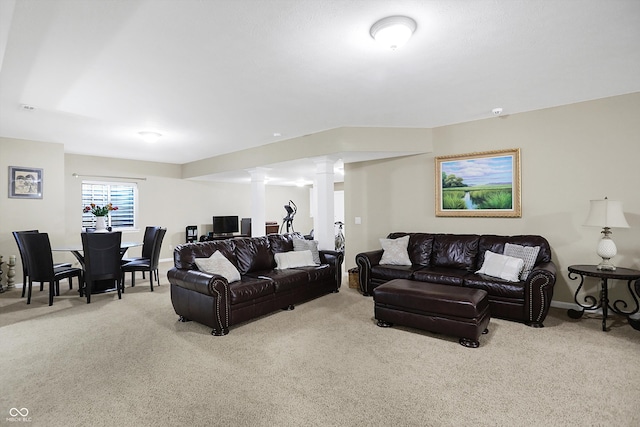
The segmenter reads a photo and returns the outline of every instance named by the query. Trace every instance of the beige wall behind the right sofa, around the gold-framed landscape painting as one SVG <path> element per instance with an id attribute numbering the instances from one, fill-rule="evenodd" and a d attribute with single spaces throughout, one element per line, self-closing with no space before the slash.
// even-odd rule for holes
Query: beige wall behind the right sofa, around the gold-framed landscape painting
<path id="1" fill-rule="evenodd" d="M 589 200 L 608 196 L 631 226 L 614 230 L 614 262 L 640 269 L 639 117 L 636 93 L 435 128 L 432 155 L 346 165 L 347 268 L 392 231 L 540 234 L 558 267 L 554 300 L 573 302 L 567 267 L 599 262 L 600 230 L 582 226 Z M 435 156 L 507 148 L 521 149 L 522 218 L 435 216 Z"/>

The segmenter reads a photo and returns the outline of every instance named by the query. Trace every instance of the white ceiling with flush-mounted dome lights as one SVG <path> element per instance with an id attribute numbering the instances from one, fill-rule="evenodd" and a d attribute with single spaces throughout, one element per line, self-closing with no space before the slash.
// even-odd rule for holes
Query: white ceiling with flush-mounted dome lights
<path id="1" fill-rule="evenodd" d="M 418 24 L 396 51 L 390 15 Z M 0 0 L 0 61 L 0 136 L 183 164 L 638 92 L 640 1 Z"/>

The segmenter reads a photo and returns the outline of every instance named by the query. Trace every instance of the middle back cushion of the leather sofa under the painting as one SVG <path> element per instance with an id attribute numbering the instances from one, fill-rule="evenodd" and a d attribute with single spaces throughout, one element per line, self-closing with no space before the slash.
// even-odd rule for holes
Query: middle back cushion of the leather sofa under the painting
<path id="1" fill-rule="evenodd" d="M 434 267 L 475 271 L 478 241 L 475 234 L 436 234 L 433 242 Z"/>

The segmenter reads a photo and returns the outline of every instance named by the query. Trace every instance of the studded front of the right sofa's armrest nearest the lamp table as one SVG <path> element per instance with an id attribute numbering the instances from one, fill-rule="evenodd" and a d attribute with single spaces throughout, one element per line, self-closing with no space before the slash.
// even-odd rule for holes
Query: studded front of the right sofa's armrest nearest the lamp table
<path id="1" fill-rule="evenodd" d="M 526 324 L 541 328 L 542 322 L 549 313 L 553 287 L 556 283 L 556 265 L 553 261 L 540 263 L 533 267 L 525 282 Z"/>

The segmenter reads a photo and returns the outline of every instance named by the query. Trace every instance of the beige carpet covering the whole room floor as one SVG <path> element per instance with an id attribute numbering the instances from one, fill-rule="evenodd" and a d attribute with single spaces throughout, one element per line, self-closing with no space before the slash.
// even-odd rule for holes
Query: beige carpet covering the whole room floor
<path id="1" fill-rule="evenodd" d="M 640 425 L 640 332 L 624 320 L 492 319 L 468 349 L 377 327 L 345 281 L 213 337 L 178 322 L 166 275 L 153 293 L 137 282 L 90 305 L 66 283 L 52 307 L 46 289 L 31 306 L 0 295 L 0 425 Z"/>

